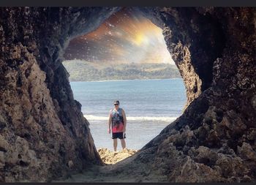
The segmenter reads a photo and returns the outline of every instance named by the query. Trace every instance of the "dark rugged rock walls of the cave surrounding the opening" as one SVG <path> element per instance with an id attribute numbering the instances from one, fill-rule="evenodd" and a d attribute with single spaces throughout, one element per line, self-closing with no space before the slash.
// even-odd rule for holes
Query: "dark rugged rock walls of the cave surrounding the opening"
<path id="1" fill-rule="evenodd" d="M 255 181 L 255 8 L 133 8 L 163 30 L 187 108 L 109 173 L 135 182 Z M 118 10 L 0 8 L 0 181 L 52 181 L 103 165 L 61 61 L 70 39 Z"/>

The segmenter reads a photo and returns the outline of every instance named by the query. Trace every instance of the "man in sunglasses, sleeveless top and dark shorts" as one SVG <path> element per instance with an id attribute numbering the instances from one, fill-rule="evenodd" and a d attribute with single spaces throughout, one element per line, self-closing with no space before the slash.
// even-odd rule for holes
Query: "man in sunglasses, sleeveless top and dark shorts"
<path id="1" fill-rule="evenodd" d="M 114 151 L 117 147 L 117 138 L 121 140 L 121 146 L 124 149 L 126 147 L 125 143 L 125 130 L 127 127 L 127 117 L 125 116 L 124 110 L 119 107 L 119 101 L 114 102 L 115 107 L 110 110 L 108 119 L 108 133 L 112 129 L 112 139 Z M 111 128 L 110 128 L 111 127 Z"/>

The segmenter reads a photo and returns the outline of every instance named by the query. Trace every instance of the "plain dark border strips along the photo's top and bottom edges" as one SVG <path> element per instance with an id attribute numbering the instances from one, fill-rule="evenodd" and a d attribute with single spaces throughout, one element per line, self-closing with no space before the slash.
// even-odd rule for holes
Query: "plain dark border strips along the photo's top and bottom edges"
<path id="1" fill-rule="evenodd" d="M 256 7 L 255 0 L 0 0 L 0 7 Z M 255 9 L 256 10 L 256 9 Z M 1 18 L 0 18 L 1 19 Z M 1 183 L 1 184 L 139 184 L 139 183 Z M 140 183 L 186 184 L 186 183 Z M 206 184 L 206 183 L 194 183 Z M 225 183 L 207 183 L 225 184 Z M 241 183 L 230 183 L 238 184 Z M 254 183 L 246 183 L 254 184 Z"/>

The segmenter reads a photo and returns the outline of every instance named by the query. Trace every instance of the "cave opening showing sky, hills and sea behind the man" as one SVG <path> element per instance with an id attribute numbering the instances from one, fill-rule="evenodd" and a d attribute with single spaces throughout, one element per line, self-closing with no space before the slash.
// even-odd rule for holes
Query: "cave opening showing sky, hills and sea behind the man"
<path id="1" fill-rule="evenodd" d="M 97 149 L 113 150 L 108 114 L 118 99 L 127 116 L 127 148 L 139 150 L 181 116 L 186 88 L 162 29 L 124 8 L 69 41 L 62 62 Z M 121 143 L 118 141 L 118 151 Z"/>

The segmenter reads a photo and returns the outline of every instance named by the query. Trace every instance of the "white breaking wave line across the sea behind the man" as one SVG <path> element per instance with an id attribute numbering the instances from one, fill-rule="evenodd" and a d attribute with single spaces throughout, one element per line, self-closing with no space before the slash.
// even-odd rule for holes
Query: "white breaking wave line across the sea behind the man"
<path id="1" fill-rule="evenodd" d="M 108 121 L 107 116 L 83 115 L 89 121 Z M 127 116 L 127 121 L 174 121 L 178 117 Z"/>

